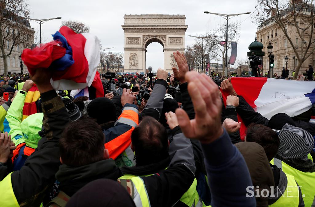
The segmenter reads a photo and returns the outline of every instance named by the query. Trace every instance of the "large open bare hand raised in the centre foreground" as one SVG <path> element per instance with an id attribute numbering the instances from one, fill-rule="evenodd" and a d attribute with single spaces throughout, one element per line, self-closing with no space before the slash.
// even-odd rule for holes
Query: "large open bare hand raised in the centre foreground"
<path id="1" fill-rule="evenodd" d="M 183 109 L 176 109 L 179 126 L 186 137 L 211 143 L 223 134 L 218 86 L 209 76 L 195 71 L 187 72 L 185 79 L 196 115 L 189 120 Z"/>

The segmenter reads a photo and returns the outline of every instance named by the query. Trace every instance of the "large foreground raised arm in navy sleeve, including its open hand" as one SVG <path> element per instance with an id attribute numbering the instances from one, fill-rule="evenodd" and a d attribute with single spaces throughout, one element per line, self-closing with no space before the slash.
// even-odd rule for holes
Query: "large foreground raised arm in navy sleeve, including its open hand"
<path id="1" fill-rule="evenodd" d="M 255 206 L 255 198 L 246 198 L 246 187 L 252 185 L 246 163 L 221 126 L 217 85 L 195 71 L 186 73 L 185 78 L 196 116 L 190 120 L 183 109 L 176 109 L 176 115 L 185 136 L 202 143 L 211 206 Z"/>

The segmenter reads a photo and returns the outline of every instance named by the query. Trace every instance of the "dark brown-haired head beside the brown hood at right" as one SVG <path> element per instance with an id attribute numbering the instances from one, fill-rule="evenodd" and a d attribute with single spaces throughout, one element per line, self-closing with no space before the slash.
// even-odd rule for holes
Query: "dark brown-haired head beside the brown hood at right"
<path id="1" fill-rule="evenodd" d="M 265 149 L 269 162 L 277 154 L 280 144 L 278 134 L 261 124 L 250 124 L 248 126 L 246 141 L 260 144 Z"/>

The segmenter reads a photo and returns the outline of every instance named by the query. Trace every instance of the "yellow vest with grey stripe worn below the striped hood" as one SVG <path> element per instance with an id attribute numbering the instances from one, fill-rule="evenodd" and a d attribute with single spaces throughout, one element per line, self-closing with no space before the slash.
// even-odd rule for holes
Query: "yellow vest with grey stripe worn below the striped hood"
<path id="1" fill-rule="evenodd" d="M 270 163 L 281 168 L 286 174 L 294 176 L 301 188 L 305 206 L 315 206 L 315 172 L 302 172 L 296 170 L 277 158 L 273 158 Z"/>

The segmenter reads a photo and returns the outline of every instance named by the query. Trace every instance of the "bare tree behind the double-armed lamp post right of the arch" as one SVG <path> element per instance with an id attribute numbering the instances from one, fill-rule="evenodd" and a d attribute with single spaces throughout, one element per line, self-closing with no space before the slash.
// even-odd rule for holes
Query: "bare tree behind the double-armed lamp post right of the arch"
<path id="1" fill-rule="evenodd" d="M 219 25 L 218 29 L 214 31 L 213 35 L 213 41 L 215 44 L 215 53 L 218 53 L 222 58 L 223 61 L 223 68 L 222 68 L 222 73 L 225 74 L 225 46 L 221 46 L 219 42 L 225 41 L 226 38 L 226 24 Z M 227 30 L 227 48 L 231 48 L 231 42 L 236 42 L 239 40 L 239 24 L 238 23 L 230 23 L 228 25 L 228 30 Z"/>

